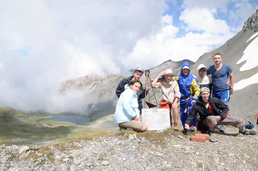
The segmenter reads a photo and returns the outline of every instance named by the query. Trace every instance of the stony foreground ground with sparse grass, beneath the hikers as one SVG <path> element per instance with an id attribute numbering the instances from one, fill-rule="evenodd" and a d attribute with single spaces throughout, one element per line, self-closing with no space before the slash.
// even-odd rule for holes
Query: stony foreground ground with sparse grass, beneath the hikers
<path id="1" fill-rule="evenodd" d="M 1 144 L 0 170 L 257 170 L 258 135 L 227 127 L 213 132 L 213 143 L 190 141 L 193 133 L 126 130 L 34 149 Z"/>

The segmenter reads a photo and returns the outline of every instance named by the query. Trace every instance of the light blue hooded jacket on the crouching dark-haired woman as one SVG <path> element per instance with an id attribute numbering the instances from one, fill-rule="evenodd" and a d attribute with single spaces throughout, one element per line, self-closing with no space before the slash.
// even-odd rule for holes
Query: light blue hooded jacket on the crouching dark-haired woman
<path id="1" fill-rule="evenodd" d="M 136 93 L 125 85 L 125 91 L 120 95 L 115 112 L 117 123 L 131 121 L 135 116 L 140 117 Z"/>

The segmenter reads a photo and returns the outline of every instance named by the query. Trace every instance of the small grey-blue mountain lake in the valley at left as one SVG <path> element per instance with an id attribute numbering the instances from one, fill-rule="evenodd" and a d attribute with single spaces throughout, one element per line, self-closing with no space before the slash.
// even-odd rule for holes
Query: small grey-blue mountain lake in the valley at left
<path id="1" fill-rule="evenodd" d="M 72 122 L 74 124 L 87 123 L 90 121 L 90 118 L 84 116 L 75 116 L 75 115 L 51 115 L 52 118 L 44 119 L 42 121 L 59 121 L 59 122 Z M 39 121 L 39 122 L 42 122 Z"/>

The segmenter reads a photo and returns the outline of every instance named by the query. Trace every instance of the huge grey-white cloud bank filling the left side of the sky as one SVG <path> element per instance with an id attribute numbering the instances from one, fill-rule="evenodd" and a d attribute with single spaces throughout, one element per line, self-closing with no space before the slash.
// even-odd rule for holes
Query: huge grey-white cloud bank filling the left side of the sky
<path id="1" fill-rule="evenodd" d="M 81 104 L 80 93 L 59 96 L 60 82 L 127 71 L 120 58 L 162 28 L 165 8 L 162 0 L 1 1 L 0 107 L 76 109 L 69 99 Z"/>

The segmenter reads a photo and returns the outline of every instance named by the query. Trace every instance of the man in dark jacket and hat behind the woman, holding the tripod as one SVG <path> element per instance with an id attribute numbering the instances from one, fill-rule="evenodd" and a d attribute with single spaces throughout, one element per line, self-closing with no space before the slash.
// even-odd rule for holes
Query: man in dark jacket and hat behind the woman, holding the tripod
<path id="1" fill-rule="evenodd" d="M 128 77 L 128 78 L 125 78 L 123 79 L 122 81 L 120 81 L 120 83 L 118 84 L 117 88 L 116 88 L 116 95 L 117 97 L 119 98 L 121 93 L 125 91 L 125 85 L 127 85 L 129 82 L 133 81 L 134 79 L 137 79 L 137 80 L 140 80 L 142 74 L 144 73 L 144 71 L 140 68 L 135 68 L 135 70 L 133 71 L 133 75 Z M 146 86 L 146 95 L 148 94 L 148 90 L 150 89 L 150 85 L 147 85 Z M 137 93 L 138 95 L 138 109 L 140 110 L 140 113 L 141 113 L 141 110 L 142 110 L 142 99 L 145 97 L 145 89 L 143 89 L 143 87 L 141 86 L 139 92 Z"/>

